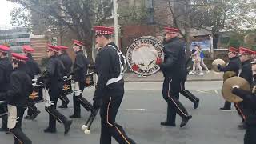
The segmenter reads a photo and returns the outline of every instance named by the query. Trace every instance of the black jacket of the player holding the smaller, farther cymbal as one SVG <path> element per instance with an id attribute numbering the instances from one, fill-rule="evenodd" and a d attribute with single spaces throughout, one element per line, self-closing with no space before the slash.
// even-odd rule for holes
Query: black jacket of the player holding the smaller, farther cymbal
<path id="1" fill-rule="evenodd" d="M 234 58 L 230 58 L 230 62 L 227 64 L 226 67 L 221 67 L 219 70 L 226 72 L 226 71 L 234 71 L 235 74 L 239 74 L 239 70 L 241 67 L 241 61 L 240 58 L 238 57 L 234 57 Z"/>

